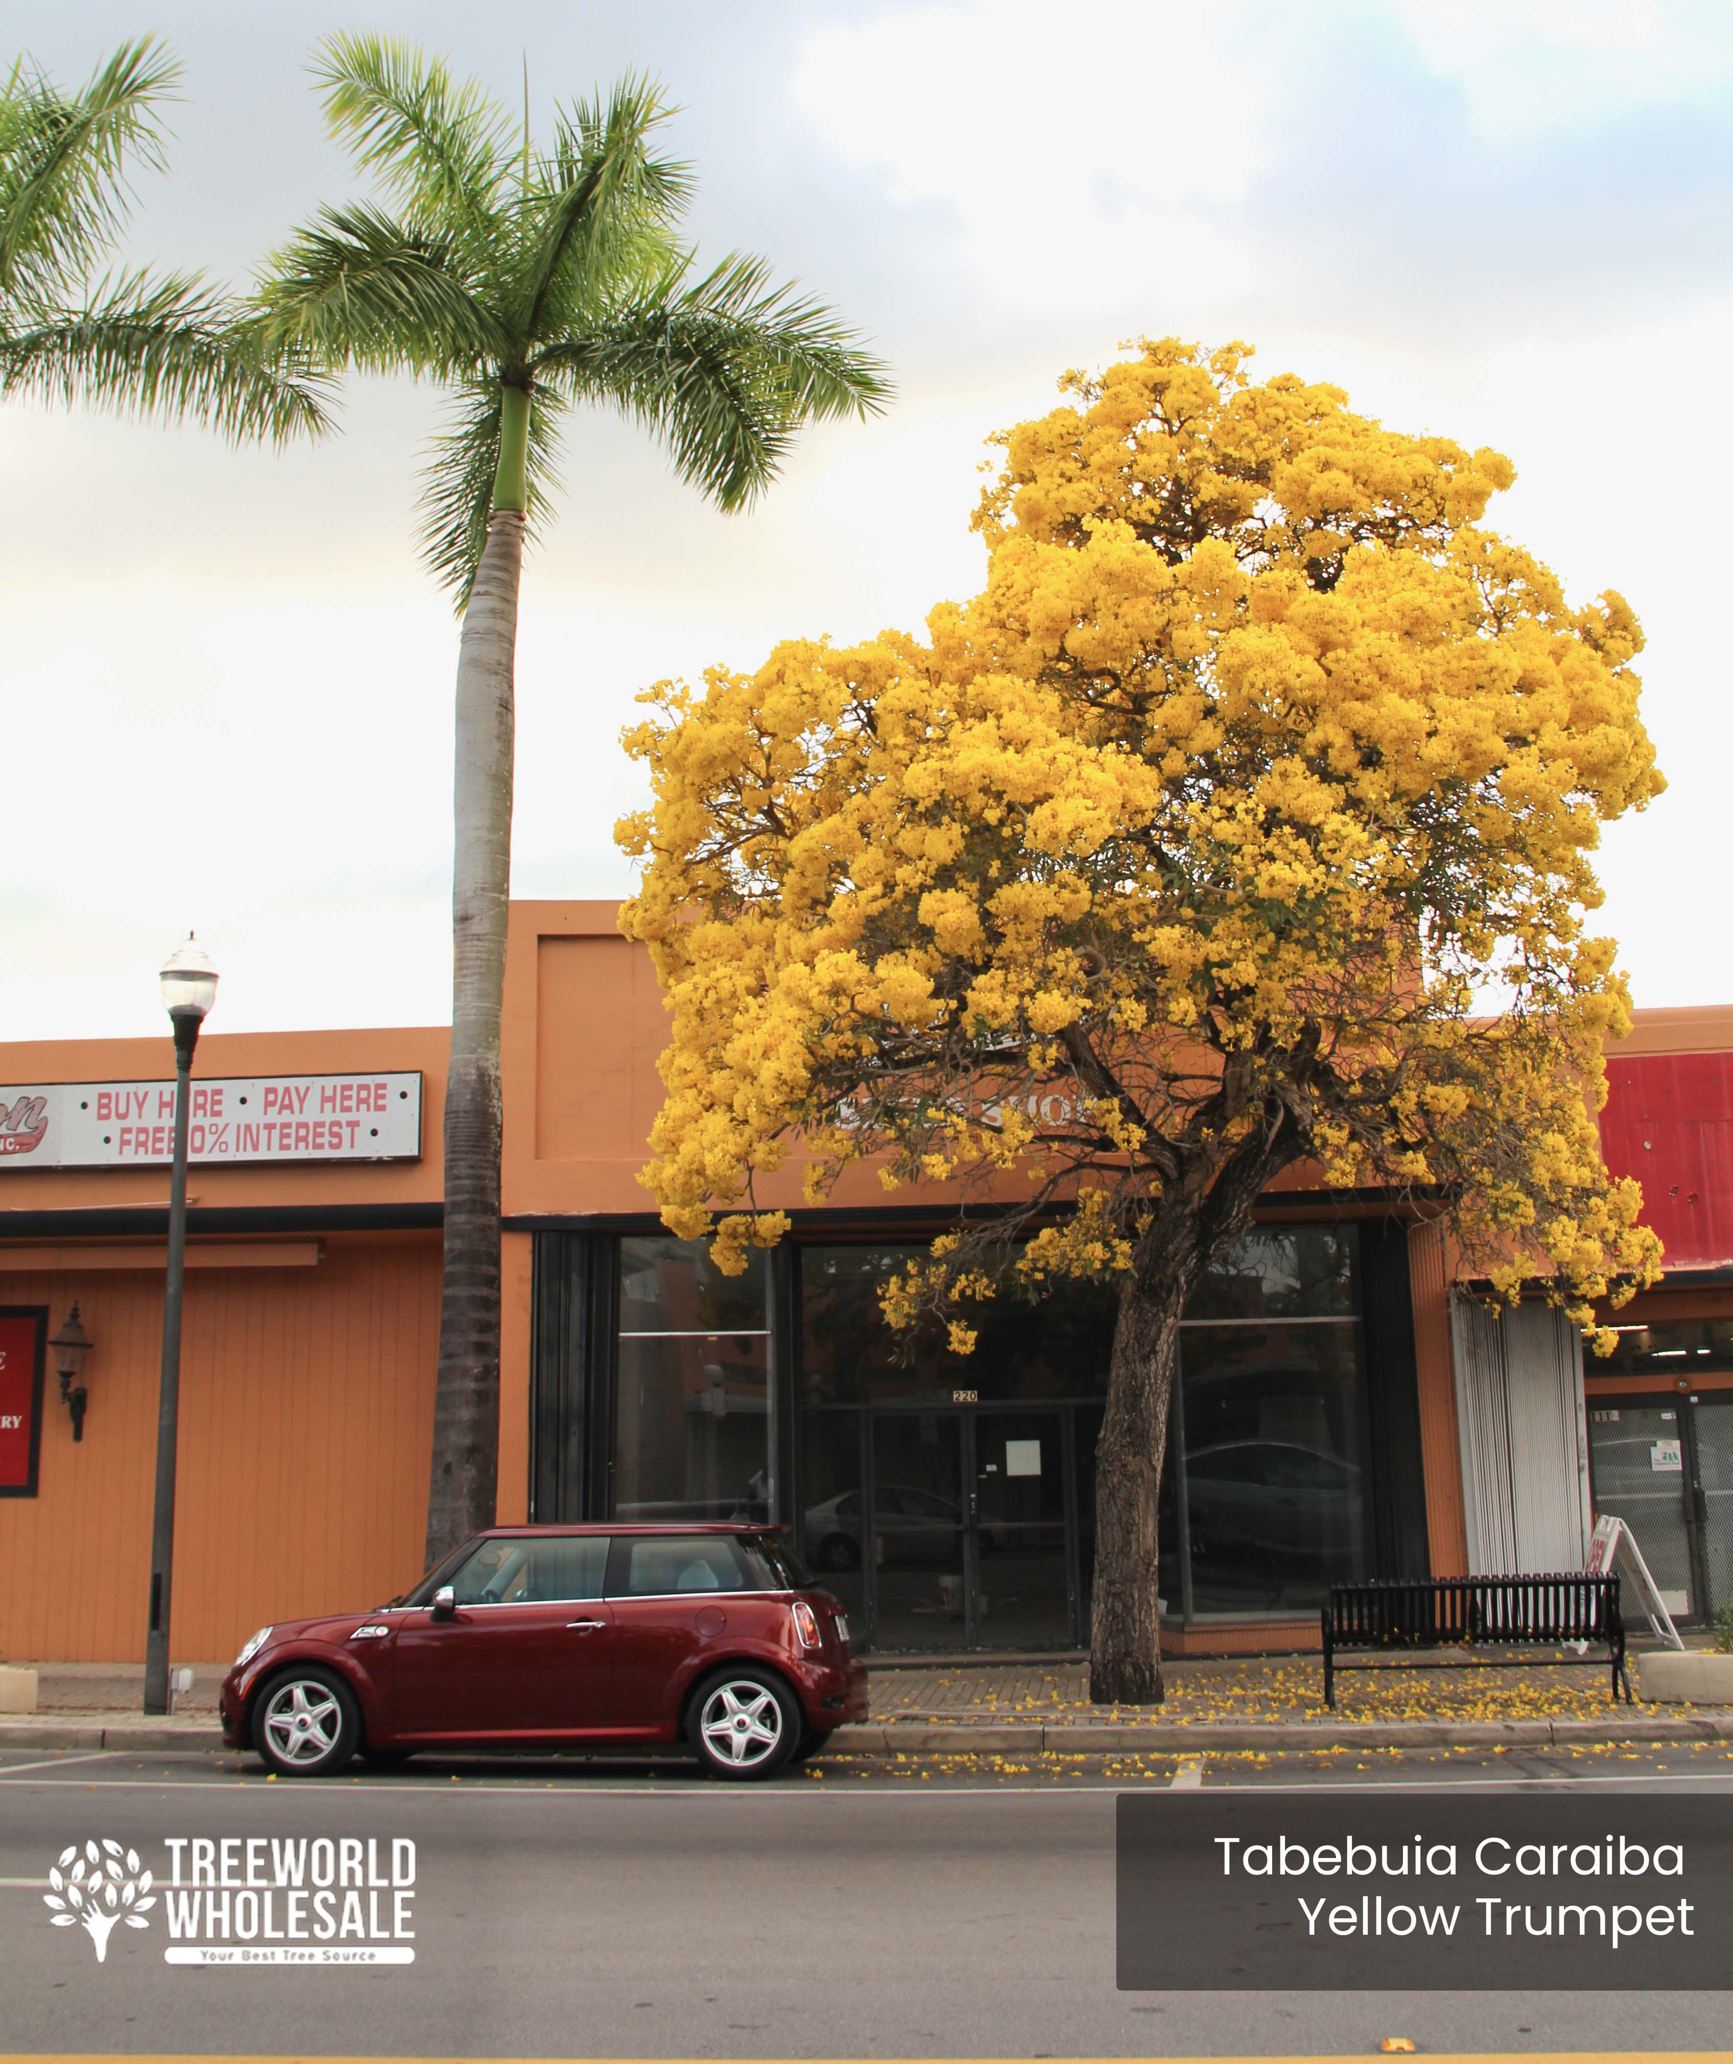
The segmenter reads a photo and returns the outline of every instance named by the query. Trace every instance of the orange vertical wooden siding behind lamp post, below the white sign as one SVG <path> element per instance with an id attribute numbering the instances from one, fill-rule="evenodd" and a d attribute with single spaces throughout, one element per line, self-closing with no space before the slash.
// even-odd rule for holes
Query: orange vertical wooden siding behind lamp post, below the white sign
<path id="1" fill-rule="evenodd" d="M 163 1284 L 8 1271 L 0 1302 L 78 1300 L 83 1443 L 50 1358 L 35 1498 L 0 1498 L 0 1657 L 142 1662 Z M 264 1620 L 390 1598 L 421 1571 L 437 1234 L 330 1236 L 318 1267 L 186 1282 L 171 1649 L 227 1659 Z"/>

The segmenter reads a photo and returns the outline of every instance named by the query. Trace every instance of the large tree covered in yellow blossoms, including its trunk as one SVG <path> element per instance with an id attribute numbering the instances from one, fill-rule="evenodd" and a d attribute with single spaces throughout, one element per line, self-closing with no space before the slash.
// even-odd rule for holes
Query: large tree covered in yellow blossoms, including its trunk
<path id="1" fill-rule="evenodd" d="M 984 590 L 788 642 L 627 735 L 623 929 L 673 1013 L 644 1181 L 724 1267 L 854 1162 L 963 1203 L 887 1290 L 1112 1278 L 1091 1690 L 1162 1697 L 1178 1323 L 1296 1162 L 1448 1216 L 1514 1290 L 1653 1278 L 1593 1110 L 1628 1024 L 1599 826 L 1661 791 L 1617 594 L 1485 528 L 1506 458 L 1149 343 L 996 442 Z M 722 1214 L 720 1220 L 716 1214 Z"/>

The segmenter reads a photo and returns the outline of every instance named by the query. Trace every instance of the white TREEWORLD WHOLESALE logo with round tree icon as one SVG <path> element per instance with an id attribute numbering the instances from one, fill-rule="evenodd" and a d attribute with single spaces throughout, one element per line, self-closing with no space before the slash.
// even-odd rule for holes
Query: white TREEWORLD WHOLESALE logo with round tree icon
<path id="1" fill-rule="evenodd" d="M 72 1843 L 47 1874 L 52 1926 L 85 1928 L 105 1963 L 109 1934 L 122 1922 L 149 1928 L 161 1903 L 165 1963 L 415 1963 L 415 1843 L 404 1837 L 186 1835 L 163 1847 L 167 1878 L 118 1841 Z"/>

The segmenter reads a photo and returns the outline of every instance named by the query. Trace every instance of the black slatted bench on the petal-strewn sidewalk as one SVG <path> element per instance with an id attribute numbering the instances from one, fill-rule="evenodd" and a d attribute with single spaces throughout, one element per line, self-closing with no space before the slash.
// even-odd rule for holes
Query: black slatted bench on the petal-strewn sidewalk
<path id="1" fill-rule="evenodd" d="M 1487 1657 L 1506 1668 L 1527 1664 L 1582 1664 L 1611 1668 L 1613 1699 L 1626 1672 L 1624 1616 L 1617 1577 L 1432 1577 L 1428 1581 L 1335 1583 L 1325 1606 L 1325 1705 L 1335 1709 L 1337 1670 L 1384 1670 L 1388 1664 L 1341 1664 L 1337 1649 L 1457 1649 L 1551 1647 L 1595 1643 L 1601 1655 Z M 1452 1664 L 1411 1664 L 1413 1670 L 1450 1670 Z"/>

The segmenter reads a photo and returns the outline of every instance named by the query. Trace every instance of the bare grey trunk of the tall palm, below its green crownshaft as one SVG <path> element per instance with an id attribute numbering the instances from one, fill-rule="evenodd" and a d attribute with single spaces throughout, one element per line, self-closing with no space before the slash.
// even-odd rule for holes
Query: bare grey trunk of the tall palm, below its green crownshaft
<path id="1" fill-rule="evenodd" d="M 512 894 L 512 739 L 524 518 L 495 510 L 464 609 L 456 696 L 446 1271 L 427 1562 L 493 1525 L 499 1486 L 499 1011 Z"/>

